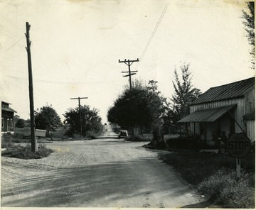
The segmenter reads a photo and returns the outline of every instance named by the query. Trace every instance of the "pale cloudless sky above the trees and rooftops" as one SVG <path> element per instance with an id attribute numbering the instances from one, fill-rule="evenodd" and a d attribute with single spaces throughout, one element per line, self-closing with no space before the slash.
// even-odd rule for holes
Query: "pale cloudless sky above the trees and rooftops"
<path id="1" fill-rule="evenodd" d="M 171 98 L 174 70 L 190 63 L 206 92 L 254 77 L 242 24 L 244 1 L 0 0 L 0 97 L 29 118 L 26 22 L 31 25 L 34 108 L 100 110 L 102 123 L 128 77 L 118 60 L 137 60 L 132 79 L 156 80 Z"/>

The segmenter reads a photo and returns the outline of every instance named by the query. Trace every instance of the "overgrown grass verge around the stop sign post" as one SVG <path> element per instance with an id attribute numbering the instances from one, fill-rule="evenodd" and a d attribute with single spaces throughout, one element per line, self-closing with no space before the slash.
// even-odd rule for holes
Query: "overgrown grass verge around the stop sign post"
<path id="1" fill-rule="evenodd" d="M 255 157 L 241 160 L 241 178 L 236 179 L 235 158 L 229 155 L 171 150 L 161 160 L 174 167 L 197 192 L 223 208 L 255 208 Z"/>

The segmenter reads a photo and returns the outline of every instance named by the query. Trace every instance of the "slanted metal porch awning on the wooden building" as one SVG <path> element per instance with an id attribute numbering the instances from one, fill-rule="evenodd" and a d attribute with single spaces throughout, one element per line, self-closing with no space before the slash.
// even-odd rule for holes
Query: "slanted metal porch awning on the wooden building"
<path id="1" fill-rule="evenodd" d="M 178 123 L 203 123 L 203 122 L 214 122 L 223 116 L 227 111 L 230 111 L 237 104 L 229 106 L 221 106 L 215 109 L 203 109 L 194 111 L 190 115 L 178 121 Z"/>

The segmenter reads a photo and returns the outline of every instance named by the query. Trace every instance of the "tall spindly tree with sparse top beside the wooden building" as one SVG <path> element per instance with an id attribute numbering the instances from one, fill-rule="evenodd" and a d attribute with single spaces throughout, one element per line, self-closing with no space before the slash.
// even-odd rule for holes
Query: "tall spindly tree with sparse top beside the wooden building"
<path id="1" fill-rule="evenodd" d="M 181 80 L 177 70 L 174 70 L 174 94 L 169 104 L 169 110 L 164 116 L 165 122 L 172 124 L 174 131 L 178 131 L 178 121 L 189 114 L 189 105 L 201 94 L 200 89 L 193 87 L 189 64 L 181 65 Z M 186 131 L 188 127 L 186 126 Z"/>

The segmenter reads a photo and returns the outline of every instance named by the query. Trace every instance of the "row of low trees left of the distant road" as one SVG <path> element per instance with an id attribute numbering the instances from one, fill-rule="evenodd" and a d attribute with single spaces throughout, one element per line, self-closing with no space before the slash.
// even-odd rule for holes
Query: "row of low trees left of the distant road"
<path id="1" fill-rule="evenodd" d="M 75 109 L 70 108 L 65 111 L 63 116 L 65 121 L 61 122 L 60 116 L 52 106 L 43 106 L 34 111 L 36 129 L 46 130 L 46 136 L 50 135 L 50 131 L 57 131 L 59 126 L 63 124 L 68 126 L 65 135 L 73 137 L 74 134 L 80 134 L 80 112 L 82 121 L 82 136 L 91 136 L 92 133 L 100 133 L 102 131 L 102 118 L 99 116 L 99 109 L 91 108 L 90 106 L 80 106 Z M 30 121 L 23 120 L 19 116 L 15 116 L 16 127 L 23 128 Z"/>

